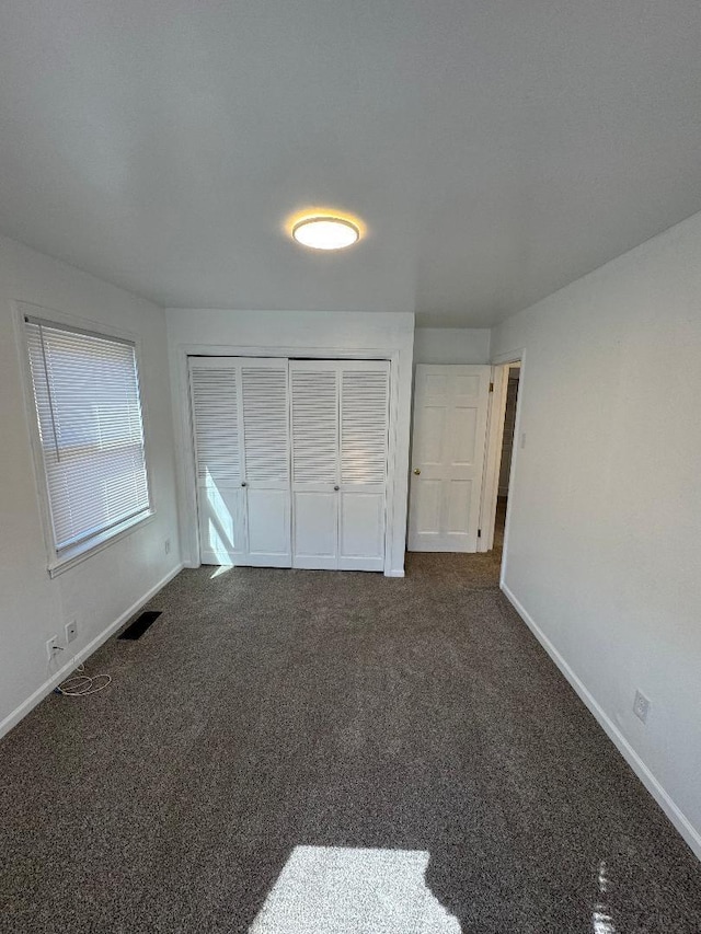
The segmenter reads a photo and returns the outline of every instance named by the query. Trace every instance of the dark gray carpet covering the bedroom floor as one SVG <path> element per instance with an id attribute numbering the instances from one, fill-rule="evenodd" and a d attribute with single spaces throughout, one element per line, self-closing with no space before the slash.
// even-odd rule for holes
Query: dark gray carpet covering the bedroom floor
<path id="1" fill-rule="evenodd" d="M 298 845 L 427 851 L 466 934 L 700 931 L 700 865 L 497 557 L 407 569 L 183 572 L 107 690 L 1 743 L 2 931 L 246 932 Z"/>

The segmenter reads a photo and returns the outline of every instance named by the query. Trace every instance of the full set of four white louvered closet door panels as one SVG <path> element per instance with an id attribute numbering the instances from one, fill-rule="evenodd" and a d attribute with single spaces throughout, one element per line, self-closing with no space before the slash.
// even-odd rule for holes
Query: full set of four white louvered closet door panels
<path id="1" fill-rule="evenodd" d="M 203 564 L 382 570 L 390 365 L 191 357 Z"/>

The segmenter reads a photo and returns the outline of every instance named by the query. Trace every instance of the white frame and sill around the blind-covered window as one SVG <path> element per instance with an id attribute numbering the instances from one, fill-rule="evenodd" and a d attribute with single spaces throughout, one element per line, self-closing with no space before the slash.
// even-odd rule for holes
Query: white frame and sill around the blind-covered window
<path id="1" fill-rule="evenodd" d="M 143 393 L 142 380 L 142 353 L 141 339 L 138 335 L 113 327 L 108 324 L 94 321 L 92 319 L 79 318 L 74 314 L 66 314 L 56 309 L 48 309 L 42 305 L 30 302 L 15 300 L 14 321 L 16 343 L 19 347 L 20 367 L 22 371 L 22 388 L 24 396 L 24 410 L 26 416 L 30 443 L 32 448 L 32 464 L 34 469 L 34 481 L 37 493 L 39 514 L 42 519 L 42 531 L 44 537 L 44 546 L 46 551 L 46 567 L 50 577 L 57 577 L 77 564 L 92 557 L 103 551 L 103 549 L 120 541 L 130 535 L 137 529 L 153 521 L 156 518 L 156 504 L 153 500 L 153 492 L 151 488 L 151 445 L 149 441 L 150 429 L 147 411 L 147 401 Z M 27 333 L 25 327 L 25 319 L 41 319 L 47 324 L 54 324 L 57 327 L 73 328 L 81 332 L 91 333 L 97 337 L 106 339 L 116 339 L 127 342 L 134 345 L 134 354 L 136 357 L 136 376 L 139 390 L 139 400 L 141 403 L 141 424 L 143 429 L 143 460 L 146 466 L 146 484 L 149 495 L 149 509 L 145 514 L 125 519 L 103 532 L 91 535 L 89 539 L 78 542 L 72 546 L 61 549 L 60 554 L 56 550 L 54 542 L 54 520 L 51 514 L 51 503 L 48 492 L 48 477 L 46 465 L 44 462 L 44 451 L 42 448 L 42 439 L 39 435 L 38 418 L 36 415 L 36 405 L 34 401 L 34 382 L 32 380 L 32 369 L 30 365 L 30 349 Z"/>

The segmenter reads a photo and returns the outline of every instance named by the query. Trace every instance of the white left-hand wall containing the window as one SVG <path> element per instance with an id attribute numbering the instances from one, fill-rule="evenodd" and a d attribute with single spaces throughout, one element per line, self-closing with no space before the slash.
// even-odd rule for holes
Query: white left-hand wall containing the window
<path id="1" fill-rule="evenodd" d="M 12 300 L 104 322 L 142 342 L 149 474 L 156 518 L 50 579 L 39 517 Z M 71 655 L 96 647 L 108 627 L 179 566 L 172 417 L 162 309 L 78 269 L 0 239 L 0 735 L 50 690 L 70 664 L 49 665 L 46 639 L 64 644 L 78 621 Z M 164 540 L 171 539 L 171 554 Z M 91 643 L 94 645 L 91 646 Z"/>

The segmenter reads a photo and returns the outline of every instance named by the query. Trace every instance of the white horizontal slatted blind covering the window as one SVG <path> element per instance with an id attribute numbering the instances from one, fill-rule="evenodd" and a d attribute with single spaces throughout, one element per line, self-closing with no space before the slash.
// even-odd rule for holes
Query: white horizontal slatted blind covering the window
<path id="1" fill-rule="evenodd" d="M 57 557 L 150 511 L 134 344 L 27 318 Z"/>

